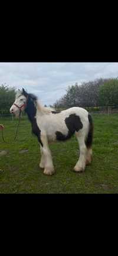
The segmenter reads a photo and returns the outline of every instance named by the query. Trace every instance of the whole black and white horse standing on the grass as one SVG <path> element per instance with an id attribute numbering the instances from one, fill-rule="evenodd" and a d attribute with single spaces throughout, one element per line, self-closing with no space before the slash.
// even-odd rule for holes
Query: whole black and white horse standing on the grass
<path id="1" fill-rule="evenodd" d="M 54 166 L 48 144 L 53 141 L 65 141 L 76 135 L 80 145 L 80 157 L 74 171 L 84 171 L 87 164 L 91 163 L 93 121 L 86 109 L 73 107 L 61 112 L 42 106 L 35 95 L 22 91 L 16 94 L 15 102 L 10 112 L 19 115 L 25 111 L 30 119 L 32 132 L 40 142 L 41 161 L 40 167 L 44 174 L 52 175 Z"/>

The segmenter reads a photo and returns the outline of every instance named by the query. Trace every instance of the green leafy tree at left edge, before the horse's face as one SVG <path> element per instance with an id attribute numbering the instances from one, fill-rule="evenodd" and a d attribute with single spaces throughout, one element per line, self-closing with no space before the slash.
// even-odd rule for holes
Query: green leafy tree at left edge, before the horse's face
<path id="1" fill-rule="evenodd" d="M 15 99 L 15 88 L 0 86 L 0 114 L 9 114 L 9 109 Z"/>

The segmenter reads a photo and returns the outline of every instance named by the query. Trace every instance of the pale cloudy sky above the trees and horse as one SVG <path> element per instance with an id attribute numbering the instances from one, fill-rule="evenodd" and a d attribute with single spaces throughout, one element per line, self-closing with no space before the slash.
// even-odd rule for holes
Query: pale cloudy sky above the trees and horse
<path id="1" fill-rule="evenodd" d="M 0 85 L 24 88 L 53 105 L 70 85 L 118 76 L 118 63 L 0 63 Z"/>

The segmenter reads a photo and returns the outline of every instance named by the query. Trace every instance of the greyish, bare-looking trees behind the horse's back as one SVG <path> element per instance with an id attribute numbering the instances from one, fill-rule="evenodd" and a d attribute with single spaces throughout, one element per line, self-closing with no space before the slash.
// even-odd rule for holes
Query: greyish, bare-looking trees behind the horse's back
<path id="1" fill-rule="evenodd" d="M 99 106 L 99 88 L 109 79 L 96 79 L 81 85 L 68 86 L 67 93 L 55 102 L 55 108 L 70 108 L 72 106 Z"/>

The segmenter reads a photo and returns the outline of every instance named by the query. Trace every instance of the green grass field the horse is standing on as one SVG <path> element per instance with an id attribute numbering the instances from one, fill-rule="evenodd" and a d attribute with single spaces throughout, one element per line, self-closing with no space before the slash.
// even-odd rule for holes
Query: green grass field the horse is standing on
<path id="1" fill-rule="evenodd" d="M 0 193 L 118 193 L 118 115 L 93 115 L 93 162 L 84 173 L 74 173 L 78 144 L 73 137 L 67 142 L 51 144 L 55 174 L 45 176 L 38 166 L 40 147 L 31 134 L 30 122 L 21 120 L 17 142 L 13 142 L 18 120 L 0 119 L 5 125 L 5 139 L 0 131 Z M 25 153 L 22 153 L 22 150 Z"/>

